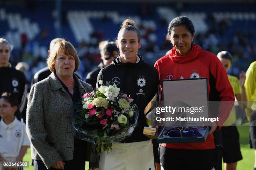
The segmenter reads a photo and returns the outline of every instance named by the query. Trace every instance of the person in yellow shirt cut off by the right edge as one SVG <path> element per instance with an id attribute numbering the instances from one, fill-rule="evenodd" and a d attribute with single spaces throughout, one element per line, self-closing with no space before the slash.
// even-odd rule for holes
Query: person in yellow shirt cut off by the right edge
<path id="1" fill-rule="evenodd" d="M 250 120 L 250 146 L 254 149 L 254 170 L 256 170 L 256 61 L 252 62 L 246 71 L 245 89 L 249 101 L 246 115 Z"/>

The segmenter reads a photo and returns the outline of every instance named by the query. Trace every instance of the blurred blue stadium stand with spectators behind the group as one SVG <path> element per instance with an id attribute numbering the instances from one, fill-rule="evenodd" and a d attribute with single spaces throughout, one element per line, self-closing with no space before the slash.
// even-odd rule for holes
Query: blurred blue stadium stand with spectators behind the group
<path id="1" fill-rule="evenodd" d="M 0 27 L 0 37 L 14 45 L 13 65 L 20 61 L 30 65 L 28 80 L 46 66 L 49 42 L 56 37 L 56 10 L 49 2 L 53 1 L 38 0 L 31 8 L 0 4 L 0 24 L 5 25 Z M 165 40 L 166 30 L 178 15 L 193 21 L 195 42 L 202 48 L 215 54 L 222 50 L 232 53 L 234 64 L 229 74 L 238 75 L 256 60 L 255 5 L 63 1 L 62 7 L 62 37 L 77 47 L 83 78 L 100 62 L 98 42 L 113 41 L 128 17 L 141 30 L 140 53 L 150 64 L 171 49 Z"/>

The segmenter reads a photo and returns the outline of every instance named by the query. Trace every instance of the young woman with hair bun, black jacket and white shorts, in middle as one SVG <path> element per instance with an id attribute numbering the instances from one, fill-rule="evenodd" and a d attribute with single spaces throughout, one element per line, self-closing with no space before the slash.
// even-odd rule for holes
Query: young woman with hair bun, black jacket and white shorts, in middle
<path id="1" fill-rule="evenodd" d="M 113 143 L 113 151 L 101 153 L 100 170 L 154 170 L 153 146 L 150 138 L 143 135 L 146 126 L 144 109 L 158 91 L 159 78 L 156 69 L 138 56 L 141 47 L 140 33 L 131 19 L 123 22 L 116 40 L 120 55 L 103 68 L 97 78 L 106 84 L 117 85 L 120 91 L 134 99 L 139 108 L 138 126 L 132 135 Z"/>

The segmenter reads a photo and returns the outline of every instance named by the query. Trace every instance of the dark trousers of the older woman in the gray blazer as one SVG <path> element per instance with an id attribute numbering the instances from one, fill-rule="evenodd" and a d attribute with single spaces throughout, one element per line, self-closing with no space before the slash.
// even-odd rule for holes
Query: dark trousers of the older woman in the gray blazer
<path id="1" fill-rule="evenodd" d="M 64 170 L 84 170 L 87 143 L 84 140 L 75 138 L 73 160 L 63 161 Z M 42 160 L 34 160 L 34 170 L 47 170 Z M 50 170 L 56 170 L 50 168 Z"/>

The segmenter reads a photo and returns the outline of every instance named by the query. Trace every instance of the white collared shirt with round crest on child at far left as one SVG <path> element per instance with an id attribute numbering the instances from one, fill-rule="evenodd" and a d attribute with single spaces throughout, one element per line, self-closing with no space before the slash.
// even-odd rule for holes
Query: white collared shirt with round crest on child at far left
<path id="1" fill-rule="evenodd" d="M 18 157 L 21 146 L 29 146 L 30 142 L 26 134 L 26 125 L 15 119 L 6 125 L 3 119 L 0 121 L 0 155 L 2 157 Z"/>

